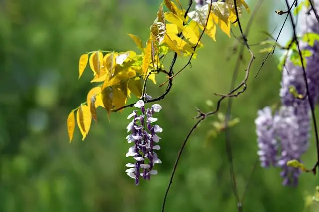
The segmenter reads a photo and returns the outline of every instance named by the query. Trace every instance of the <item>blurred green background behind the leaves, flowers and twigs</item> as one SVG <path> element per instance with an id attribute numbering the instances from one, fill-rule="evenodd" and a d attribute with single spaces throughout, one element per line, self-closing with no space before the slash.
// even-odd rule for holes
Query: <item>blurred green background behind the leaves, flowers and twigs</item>
<path id="1" fill-rule="evenodd" d="M 187 0 L 181 0 L 186 6 Z M 249 1 L 253 9 L 255 1 Z M 0 210 L 1 212 L 159 212 L 177 152 L 195 120 L 195 106 L 211 109 L 213 93 L 226 93 L 236 55 L 234 38 L 217 33 L 217 42 L 204 37 L 192 67 L 174 79 L 171 92 L 160 102 L 158 123 L 163 128 L 158 151 L 158 175 L 139 186 L 125 174 L 130 147 L 125 137 L 127 114 L 98 110 L 85 141 L 75 131 L 68 142 L 68 113 L 86 99 L 93 87 L 90 71 L 78 80 L 78 59 L 93 50 L 136 50 L 127 33 L 144 41 L 160 0 L 0 0 Z M 262 31 L 280 27 L 284 16 L 273 15 L 266 1 L 255 17 L 248 37 L 256 43 Z M 285 7 L 282 9 L 284 10 Z M 281 9 L 281 8 L 278 8 Z M 270 15 L 271 14 L 271 15 Z M 244 13 L 243 25 L 249 16 Z M 234 30 L 238 35 L 238 30 Z M 289 36 L 289 35 L 287 35 Z M 265 54 L 258 53 L 254 75 Z M 226 58 L 230 57 L 230 60 Z M 171 60 L 168 55 L 166 60 Z M 249 60 L 245 51 L 238 82 Z M 177 59 L 181 67 L 187 59 Z M 256 161 L 254 119 L 257 110 L 279 101 L 280 72 L 277 59 L 269 59 L 257 79 L 250 77 L 247 91 L 234 99 L 232 116 L 240 124 L 230 130 L 239 195 L 244 192 Z M 175 69 L 177 70 L 177 69 Z M 161 82 L 162 78 L 158 78 Z M 162 89 L 149 86 L 149 94 Z M 226 101 L 221 112 L 226 111 Z M 166 205 L 166 212 L 236 211 L 225 134 L 207 139 L 210 117 L 190 137 L 180 160 Z M 316 161 L 315 144 L 303 157 L 306 166 Z M 261 169 L 259 163 L 243 202 L 245 212 L 301 212 L 304 197 L 312 194 L 317 178 L 300 176 L 297 188 L 283 187 L 279 169 Z M 317 207 L 317 208 L 316 208 Z M 318 211 L 312 206 L 311 211 Z"/>

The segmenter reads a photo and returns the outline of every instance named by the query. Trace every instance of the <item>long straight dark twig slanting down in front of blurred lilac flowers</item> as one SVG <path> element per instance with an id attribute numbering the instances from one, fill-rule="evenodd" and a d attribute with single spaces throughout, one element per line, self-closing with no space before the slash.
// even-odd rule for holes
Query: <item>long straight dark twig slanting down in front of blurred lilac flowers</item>
<path id="1" fill-rule="evenodd" d="M 288 0 L 285 0 L 285 1 L 286 1 L 287 8 L 289 8 Z M 296 26 L 295 26 L 293 15 L 291 14 L 291 11 L 289 11 L 289 17 L 290 17 L 290 22 L 291 22 L 291 25 L 293 28 L 293 34 L 294 34 L 293 40 L 297 44 L 299 58 L 301 61 L 301 66 L 303 68 L 303 76 L 304 76 L 304 81 L 305 81 L 305 86 L 306 86 L 306 93 L 307 93 L 307 97 L 308 97 L 309 106 L 311 109 L 311 116 L 312 116 L 314 130 L 315 130 L 315 138 L 316 138 L 316 146 L 317 146 L 317 163 L 319 163 L 319 140 L 318 140 L 317 122 L 316 122 L 316 117 L 315 117 L 315 107 L 313 105 L 313 99 L 309 94 L 309 86 L 308 86 L 308 80 L 307 80 L 306 71 L 305 71 L 305 65 L 304 65 L 303 56 L 302 56 L 302 53 L 301 53 L 301 50 L 299 47 L 299 41 L 297 39 L 297 33 L 296 33 Z M 319 171 L 319 166 L 318 166 L 318 171 Z M 319 185 L 319 174 L 318 174 L 318 185 Z"/>

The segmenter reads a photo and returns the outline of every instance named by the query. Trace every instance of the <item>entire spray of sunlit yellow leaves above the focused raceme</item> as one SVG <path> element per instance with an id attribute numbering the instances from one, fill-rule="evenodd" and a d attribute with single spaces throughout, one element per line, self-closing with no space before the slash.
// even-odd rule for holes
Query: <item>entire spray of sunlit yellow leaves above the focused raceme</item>
<path id="1" fill-rule="evenodd" d="M 128 34 L 139 52 L 98 50 L 81 55 L 78 65 L 79 78 L 89 63 L 93 72 L 90 82 L 94 86 L 87 94 L 86 103 L 72 110 L 68 116 L 70 141 L 75 128 L 75 111 L 77 125 L 82 139 L 85 139 L 91 119 L 97 121 L 96 108 L 104 107 L 110 119 L 111 111 L 122 109 L 129 98 L 141 97 L 145 80 L 149 79 L 155 84 L 156 75 L 165 70 L 163 60 L 166 54 L 176 53 L 179 57 L 191 55 L 194 59 L 197 50 L 203 47 L 200 41 L 202 34 L 205 33 L 216 41 L 217 28 L 230 37 L 231 25 L 237 20 L 234 0 L 206 4 L 189 11 L 187 15 L 180 1 L 175 2 L 178 6 L 172 0 L 163 0 L 150 26 L 150 36 L 145 46 L 138 36 Z M 236 4 L 239 14 L 243 8 L 249 12 L 244 0 L 236 0 Z"/>

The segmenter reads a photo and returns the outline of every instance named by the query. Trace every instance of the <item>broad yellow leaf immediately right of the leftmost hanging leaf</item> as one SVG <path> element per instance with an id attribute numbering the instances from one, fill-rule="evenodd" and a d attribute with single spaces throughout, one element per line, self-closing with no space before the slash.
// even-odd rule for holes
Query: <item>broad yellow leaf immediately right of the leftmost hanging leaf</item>
<path id="1" fill-rule="evenodd" d="M 82 140 L 84 140 L 89 133 L 92 121 L 92 114 L 89 107 L 87 105 L 81 105 L 77 110 L 76 118 L 77 124 L 82 134 Z"/>

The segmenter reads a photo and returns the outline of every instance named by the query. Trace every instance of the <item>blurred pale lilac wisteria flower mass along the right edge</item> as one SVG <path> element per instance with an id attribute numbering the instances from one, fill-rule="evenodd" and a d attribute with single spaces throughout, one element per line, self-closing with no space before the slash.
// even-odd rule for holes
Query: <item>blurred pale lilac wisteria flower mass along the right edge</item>
<path id="1" fill-rule="evenodd" d="M 319 8 L 316 8 L 317 12 Z M 302 34 L 319 33 L 319 23 L 313 11 L 305 16 Z M 305 25 L 309 27 L 304 27 Z M 319 43 L 313 46 L 301 42 L 301 50 L 309 50 L 312 55 L 306 57 L 306 76 L 310 98 L 314 104 L 319 102 Z M 297 98 L 291 93 L 295 88 L 304 98 Z M 306 96 L 306 85 L 301 66 L 287 60 L 286 69 L 282 71 L 280 89 L 282 106 L 278 111 L 270 107 L 258 111 L 255 120 L 258 152 L 262 167 L 281 167 L 283 185 L 297 185 L 300 170 L 287 166 L 289 160 L 301 161 L 301 156 L 309 148 L 310 138 L 310 105 Z"/>

